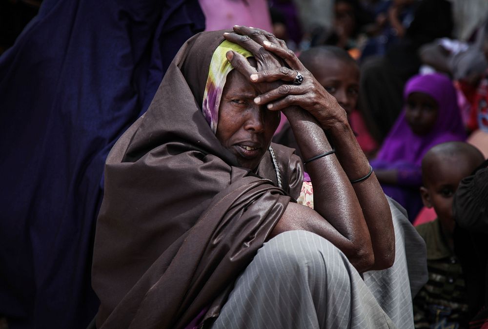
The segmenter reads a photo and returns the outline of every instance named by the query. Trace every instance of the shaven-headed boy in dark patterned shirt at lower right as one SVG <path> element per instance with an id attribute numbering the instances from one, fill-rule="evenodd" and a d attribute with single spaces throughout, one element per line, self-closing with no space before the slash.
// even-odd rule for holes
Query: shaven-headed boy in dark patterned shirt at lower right
<path id="1" fill-rule="evenodd" d="M 483 161 L 482 153 L 464 142 L 438 144 L 422 160 L 422 200 L 437 219 L 416 227 L 426 242 L 429 278 L 413 300 L 415 328 L 468 328 L 465 281 L 453 252 L 452 199 L 461 180 Z"/>

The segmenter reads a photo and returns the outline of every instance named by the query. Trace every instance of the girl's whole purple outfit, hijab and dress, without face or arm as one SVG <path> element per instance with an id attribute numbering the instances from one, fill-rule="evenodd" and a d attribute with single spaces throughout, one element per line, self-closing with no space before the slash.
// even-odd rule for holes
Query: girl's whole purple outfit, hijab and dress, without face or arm
<path id="1" fill-rule="evenodd" d="M 371 161 L 374 169 L 398 170 L 398 185 L 382 184 L 382 187 L 386 195 L 407 209 L 411 221 L 422 207 L 419 187 L 422 185 L 420 165 L 424 154 L 436 144 L 466 140 L 456 91 L 447 76 L 439 73 L 414 76 L 405 86 L 404 101 L 414 92 L 425 93 L 439 104 L 432 131 L 424 136 L 414 134 L 404 109 L 386 136 L 377 158 Z"/>

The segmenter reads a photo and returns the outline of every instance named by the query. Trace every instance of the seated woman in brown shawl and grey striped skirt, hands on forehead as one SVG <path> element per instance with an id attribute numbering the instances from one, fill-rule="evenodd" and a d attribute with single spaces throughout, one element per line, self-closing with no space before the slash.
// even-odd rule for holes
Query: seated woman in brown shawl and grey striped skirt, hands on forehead
<path id="1" fill-rule="evenodd" d="M 345 111 L 284 43 L 234 29 L 183 45 L 107 158 L 96 327 L 394 327 L 359 274 L 393 264 L 391 212 Z M 280 113 L 315 209 L 271 145 Z"/>

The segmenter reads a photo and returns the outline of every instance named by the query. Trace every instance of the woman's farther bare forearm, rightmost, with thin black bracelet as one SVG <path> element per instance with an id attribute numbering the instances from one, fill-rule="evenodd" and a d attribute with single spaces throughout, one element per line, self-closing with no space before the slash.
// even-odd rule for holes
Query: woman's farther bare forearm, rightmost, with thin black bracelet
<path id="1" fill-rule="evenodd" d="M 348 179 L 357 180 L 366 176 L 370 166 L 349 124 L 339 122 L 327 133 Z M 391 211 L 383 189 L 374 173 L 366 180 L 352 184 L 352 187 L 361 205 L 371 237 L 375 258 L 371 269 L 390 267 L 395 258 L 395 234 Z"/>

